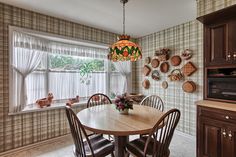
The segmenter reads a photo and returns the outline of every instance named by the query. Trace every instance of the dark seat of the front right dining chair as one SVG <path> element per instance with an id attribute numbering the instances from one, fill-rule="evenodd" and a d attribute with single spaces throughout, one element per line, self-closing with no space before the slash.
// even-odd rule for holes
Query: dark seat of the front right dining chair
<path id="1" fill-rule="evenodd" d="M 144 147 L 145 147 L 145 142 L 147 140 L 148 136 L 142 136 L 139 139 L 135 139 L 131 142 L 129 142 L 126 145 L 127 151 L 133 154 L 134 156 L 137 157 L 145 157 L 144 155 Z M 151 157 L 153 155 L 153 145 L 154 145 L 154 139 L 151 139 L 150 143 L 148 144 L 147 147 L 147 152 L 146 152 L 146 157 Z M 157 146 L 160 145 L 160 143 L 157 141 Z M 169 156 L 169 149 L 168 152 L 166 152 L 164 157 Z"/>

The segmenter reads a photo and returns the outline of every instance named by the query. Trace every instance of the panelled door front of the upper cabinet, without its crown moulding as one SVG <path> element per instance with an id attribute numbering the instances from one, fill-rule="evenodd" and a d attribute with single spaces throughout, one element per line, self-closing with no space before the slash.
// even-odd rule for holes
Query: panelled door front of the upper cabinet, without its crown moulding
<path id="1" fill-rule="evenodd" d="M 205 66 L 236 62 L 236 19 L 204 26 Z"/>

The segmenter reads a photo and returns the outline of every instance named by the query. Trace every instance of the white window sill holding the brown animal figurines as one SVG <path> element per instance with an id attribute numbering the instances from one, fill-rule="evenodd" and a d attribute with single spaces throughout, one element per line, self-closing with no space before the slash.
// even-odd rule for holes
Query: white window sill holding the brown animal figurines
<path id="1" fill-rule="evenodd" d="M 8 115 L 18 115 L 18 114 L 25 114 L 25 113 L 33 113 L 33 112 L 41 112 L 41 111 L 48 111 L 48 110 L 55 110 L 55 109 L 62 109 L 66 105 L 65 102 L 57 102 L 51 104 L 49 107 L 40 108 L 37 104 L 31 104 L 26 106 L 22 111 L 15 112 L 15 113 L 8 113 Z M 74 103 L 72 107 L 82 107 L 85 108 L 87 105 L 87 100 L 80 101 L 78 103 Z"/>

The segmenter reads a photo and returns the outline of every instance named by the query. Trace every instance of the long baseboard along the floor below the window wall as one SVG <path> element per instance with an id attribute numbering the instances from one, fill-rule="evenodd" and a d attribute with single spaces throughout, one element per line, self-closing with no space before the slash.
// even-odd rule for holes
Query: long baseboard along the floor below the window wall
<path id="1" fill-rule="evenodd" d="M 37 142 L 37 143 L 34 143 L 34 144 L 30 144 L 30 145 L 22 146 L 22 147 L 19 147 L 19 148 L 11 149 L 11 150 L 0 153 L 0 157 L 15 154 L 15 153 L 25 151 L 25 150 L 28 150 L 28 149 L 40 147 L 42 145 L 54 143 L 54 142 L 57 142 L 57 141 L 60 141 L 60 140 L 67 140 L 68 138 L 71 138 L 71 134 L 67 134 L 67 135 L 55 137 L 55 138 L 52 138 L 52 139 L 48 139 L 48 140 L 45 140 L 45 141 L 40 141 L 40 142 Z"/>

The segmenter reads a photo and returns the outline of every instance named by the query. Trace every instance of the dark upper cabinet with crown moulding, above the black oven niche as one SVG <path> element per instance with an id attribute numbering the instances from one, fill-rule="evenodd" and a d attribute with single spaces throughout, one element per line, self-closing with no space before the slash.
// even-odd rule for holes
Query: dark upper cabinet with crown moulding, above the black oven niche
<path id="1" fill-rule="evenodd" d="M 235 67 L 236 5 L 198 20 L 204 24 L 205 67 Z"/>

